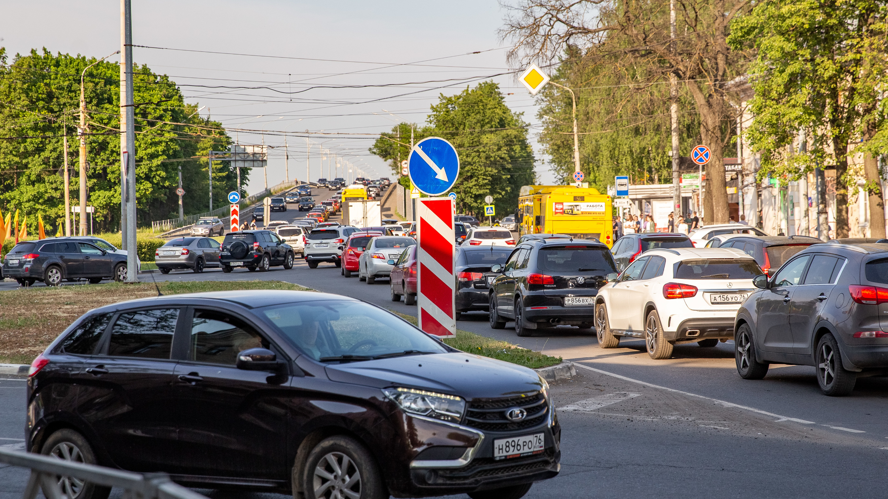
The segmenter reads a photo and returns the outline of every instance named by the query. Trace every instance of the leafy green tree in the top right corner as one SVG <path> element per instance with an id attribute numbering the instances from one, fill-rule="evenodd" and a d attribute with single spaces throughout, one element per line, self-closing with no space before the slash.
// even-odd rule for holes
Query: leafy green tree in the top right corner
<path id="1" fill-rule="evenodd" d="M 836 238 L 848 237 L 848 185 L 860 174 L 868 180 L 873 237 L 884 237 L 873 153 L 888 151 L 886 19 L 878 0 L 781 0 L 759 3 L 732 24 L 729 43 L 758 51 L 749 68 L 756 95 L 747 134 L 763 152 L 760 175 L 794 179 L 814 165 L 835 166 Z M 807 152 L 790 152 L 799 130 L 813 140 Z M 857 151 L 868 152 L 862 172 L 849 170 Z"/>

